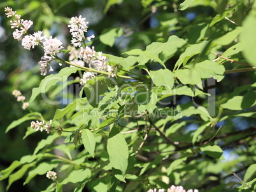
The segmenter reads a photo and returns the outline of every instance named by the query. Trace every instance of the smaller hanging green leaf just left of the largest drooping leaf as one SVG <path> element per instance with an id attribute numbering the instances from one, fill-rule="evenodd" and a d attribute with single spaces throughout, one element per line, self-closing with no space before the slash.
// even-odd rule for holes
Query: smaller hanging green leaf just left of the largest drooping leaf
<path id="1" fill-rule="evenodd" d="M 89 129 L 83 129 L 82 139 L 83 146 L 85 146 L 85 150 L 87 150 L 90 153 L 90 155 L 92 155 L 92 157 L 94 158 L 94 150 L 96 146 L 94 134 Z"/>

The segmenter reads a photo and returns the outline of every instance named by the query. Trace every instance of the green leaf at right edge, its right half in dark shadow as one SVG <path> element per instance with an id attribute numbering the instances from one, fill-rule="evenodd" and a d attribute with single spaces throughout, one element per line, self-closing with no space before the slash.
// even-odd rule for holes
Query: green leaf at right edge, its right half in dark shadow
<path id="1" fill-rule="evenodd" d="M 256 91 L 250 90 L 245 96 L 234 96 L 221 106 L 229 110 L 245 110 L 254 105 L 256 105 Z"/>

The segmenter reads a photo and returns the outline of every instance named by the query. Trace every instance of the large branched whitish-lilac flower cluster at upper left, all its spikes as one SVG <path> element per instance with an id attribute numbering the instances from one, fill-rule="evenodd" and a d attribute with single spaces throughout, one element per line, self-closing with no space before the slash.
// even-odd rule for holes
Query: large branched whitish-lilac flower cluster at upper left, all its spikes
<path id="1" fill-rule="evenodd" d="M 35 46 L 41 46 L 44 49 L 45 53 L 41 57 L 41 61 L 38 62 L 41 75 L 46 75 L 48 66 L 50 66 L 49 72 L 53 71 L 51 61 L 56 60 L 57 54 L 63 49 L 62 42 L 56 37 L 46 37 L 41 31 L 35 32 L 32 35 L 28 34 L 27 30 L 32 26 L 33 22 L 20 19 L 21 16 L 17 15 L 17 12 L 9 7 L 4 8 L 4 11 L 7 17 L 13 17 L 13 20 L 11 20 L 11 28 L 19 29 L 13 32 L 14 39 L 22 40 L 22 46 L 24 46 L 25 49 L 34 49 Z M 70 25 L 68 25 L 68 27 L 72 35 L 71 44 L 74 46 L 69 53 L 69 61 L 77 67 L 84 67 L 85 63 L 87 63 L 90 68 L 93 67 L 99 72 L 110 72 L 109 76 L 115 77 L 117 68 L 107 65 L 106 56 L 103 56 L 102 52 L 96 53 L 93 46 L 92 48 L 85 46 L 85 41 L 90 41 L 95 37 L 94 35 L 85 37 L 85 32 L 87 32 L 88 29 L 88 22 L 85 22 L 85 20 L 86 18 L 82 18 L 80 15 L 78 17 L 72 17 L 69 22 Z M 27 35 L 22 39 L 23 34 Z M 78 47 L 78 50 L 76 50 L 75 47 Z M 80 84 L 84 85 L 87 80 L 92 79 L 96 74 L 96 72 L 85 72 Z"/>

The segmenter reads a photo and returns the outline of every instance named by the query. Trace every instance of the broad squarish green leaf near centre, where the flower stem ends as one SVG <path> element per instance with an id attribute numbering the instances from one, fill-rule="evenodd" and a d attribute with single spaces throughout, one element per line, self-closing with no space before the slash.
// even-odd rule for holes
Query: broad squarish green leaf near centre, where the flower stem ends
<path id="1" fill-rule="evenodd" d="M 155 84 L 155 86 L 165 86 L 169 90 L 173 88 L 174 77 L 173 73 L 169 69 L 161 68 L 157 71 L 150 71 L 150 74 L 153 80 L 153 84 Z"/>

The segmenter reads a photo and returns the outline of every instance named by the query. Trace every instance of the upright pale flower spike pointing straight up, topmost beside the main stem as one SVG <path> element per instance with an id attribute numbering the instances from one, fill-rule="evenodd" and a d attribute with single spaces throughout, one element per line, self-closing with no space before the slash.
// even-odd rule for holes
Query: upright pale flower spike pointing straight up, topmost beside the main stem
<path id="1" fill-rule="evenodd" d="M 87 24 L 88 22 L 85 22 L 86 18 L 82 18 L 82 16 L 80 15 L 79 17 L 75 16 L 72 17 L 70 20 L 70 24 L 68 25 L 72 35 L 72 40 L 71 43 L 75 46 L 75 47 L 80 47 L 83 39 L 85 39 L 85 34 L 84 32 L 87 32 Z M 89 39 L 93 38 L 92 36 L 88 37 Z"/>

